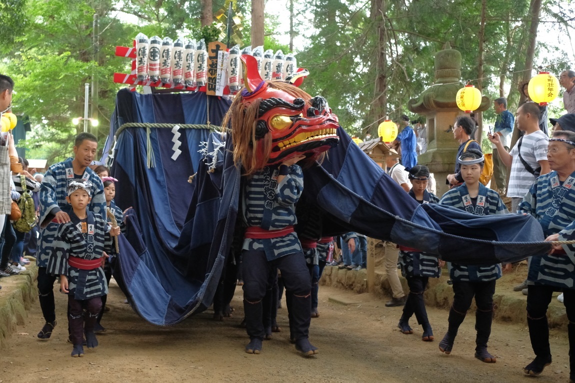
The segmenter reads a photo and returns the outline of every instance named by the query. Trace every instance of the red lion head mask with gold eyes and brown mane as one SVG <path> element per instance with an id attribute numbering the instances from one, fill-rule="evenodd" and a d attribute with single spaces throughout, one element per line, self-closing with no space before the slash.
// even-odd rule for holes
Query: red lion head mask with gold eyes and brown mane
<path id="1" fill-rule="evenodd" d="M 241 59 L 245 88 L 233 100 L 223 125 L 231 123 L 233 158 L 247 175 L 302 154 L 303 161 L 311 164 L 338 145 L 338 117 L 327 100 L 312 98 L 293 85 L 301 83 L 307 71 L 286 81 L 266 82 L 254 57 L 242 55 Z"/>

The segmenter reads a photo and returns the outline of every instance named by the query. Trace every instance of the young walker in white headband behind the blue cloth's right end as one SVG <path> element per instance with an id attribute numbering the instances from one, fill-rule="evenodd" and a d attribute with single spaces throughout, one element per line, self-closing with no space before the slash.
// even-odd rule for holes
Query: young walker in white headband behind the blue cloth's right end
<path id="1" fill-rule="evenodd" d="M 479 182 L 484 162 L 483 154 L 477 149 L 468 149 L 463 153 L 459 157 L 459 163 L 464 182 L 444 194 L 439 203 L 475 215 L 507 213 L 507 207 L 501 201 L 499 194 Z M 473 247 L 462 251 L 473 252 Z M 447 334 L 439 342 L 439 350 L 447 355 L 451 353 L 459 326 L 471 307 L 471 300 L 475 297 L 477 304 L 475 357 L 486 363 L 496 362 L 497 359 L 487 351 L 487 342 L 493 319 L 493 293 L 495 282 L 501 277 L 501 264 L 465 266 L 452 262 L 450 277 L 453 280 L 453 305 L 449 311 Z"/>

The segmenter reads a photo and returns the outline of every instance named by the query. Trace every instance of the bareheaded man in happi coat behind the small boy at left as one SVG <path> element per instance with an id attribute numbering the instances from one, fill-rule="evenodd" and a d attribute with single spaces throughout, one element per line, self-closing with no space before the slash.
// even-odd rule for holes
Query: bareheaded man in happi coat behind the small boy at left
<path id="1" fill-rule="evenodd" d="M 38 266 L 38 297 L 45 324 L 38 338 L 48 339 L 56 326 L 53 287 L 56 276 L 46 272 L 53 254 L 53 240 L 60 223 L 69 222 L 70 204 L 68 185 L 73 181 L 90 183 L 91 200 L 87 208 L 95 214 L 106 214 L 104 188 L 99 177 L 89 168 L 98 150 L 98 140 L 90 133 L 80 133 L 74 141 L 74 158 L 48 168 L 40 185 L 40 240 L 36 265 Z"/>

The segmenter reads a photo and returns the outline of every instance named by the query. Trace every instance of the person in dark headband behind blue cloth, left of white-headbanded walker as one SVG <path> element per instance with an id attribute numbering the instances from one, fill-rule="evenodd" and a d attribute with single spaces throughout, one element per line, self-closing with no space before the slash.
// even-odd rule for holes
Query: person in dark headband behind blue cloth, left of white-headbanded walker
<path id="1" fill-rule="evenodd" d="M 415 167 L 409 169 L 409 180 L 413 185 L 409 195 L 420 204 L 439 202 L 439 198 L 435 194 L 427 191 L 427 181 L 429 179 L 430 171 L 426 166 L 415 165 Z M 407 279 L 409 295 L 397 327 L 400 328 L 403 334 L 413 334 L 413 330 L 409 326 L 409 319 L 415 314 L 417 323 L 423 328 L 421 339 L 424 342 L 431 342 L 434 340 L 434 336 L 427 319 L 423 293 L 429 278 L 439 278 L 441 276 L 441 268 L 445 262 L 417 249 L 401 245 L 399 249 L 401 274 Z"/>

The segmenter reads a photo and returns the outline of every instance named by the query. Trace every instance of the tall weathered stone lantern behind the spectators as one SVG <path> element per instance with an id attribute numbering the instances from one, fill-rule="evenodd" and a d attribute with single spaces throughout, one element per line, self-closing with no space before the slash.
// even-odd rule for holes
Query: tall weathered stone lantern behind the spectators
<path id="1" fill-rule="evenodd" d="M 427 119 L 427 151 L 420 154 L 417 163 L 427 165 L 434 173 L 438 196 L 447 191 L 447 175 L 455 169 L 459 142 L 453 138 L 453 123 L 464 115 L 455 96 L 462 87 L 461 53 L 451 49 L 447 42 L 442 51 L 435 53 L 435 83 L 408 102 L 410 111 Z M 476 112 L 485 111 L 490 105 L 489 98 L 483 96 Z"/>

